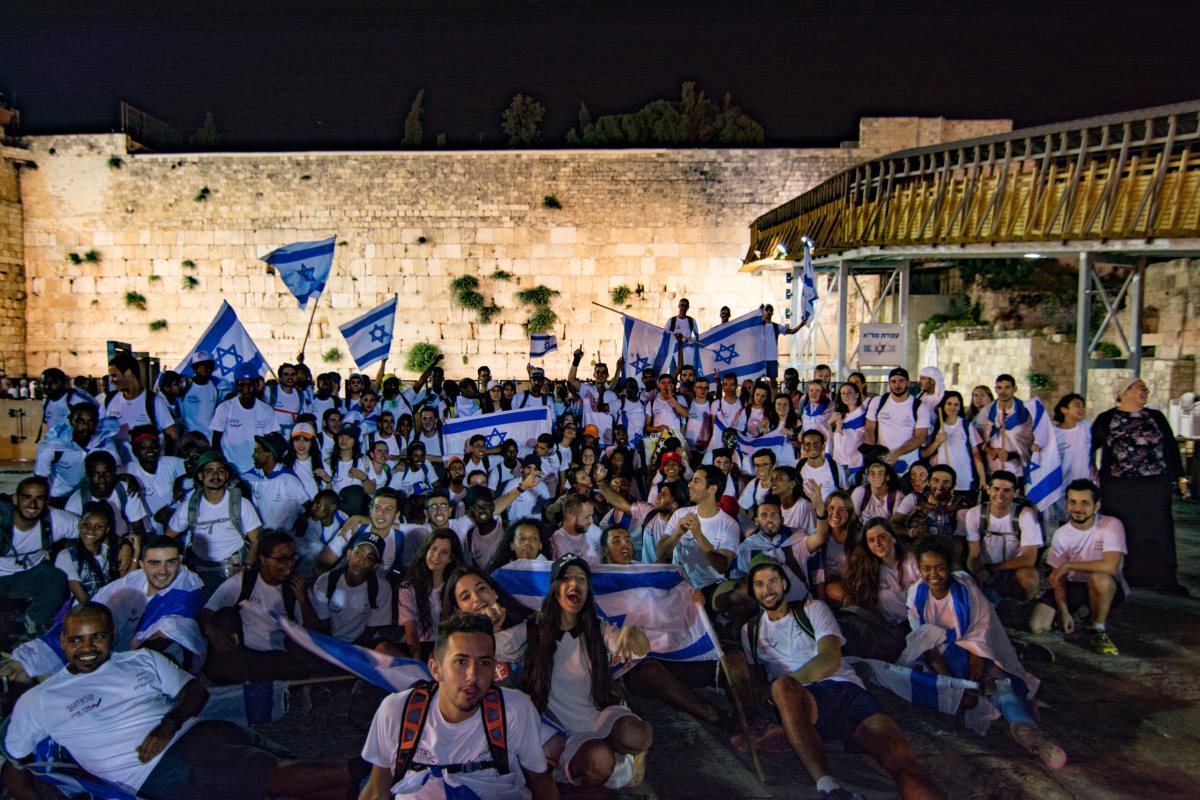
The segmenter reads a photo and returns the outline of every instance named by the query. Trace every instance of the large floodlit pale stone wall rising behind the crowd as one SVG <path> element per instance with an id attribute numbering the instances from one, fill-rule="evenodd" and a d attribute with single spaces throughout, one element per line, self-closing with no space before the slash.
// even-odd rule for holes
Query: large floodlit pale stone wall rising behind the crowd
<path id="1" fill-rule="evenodd" d="M 346 243 L 316 313 L 310 363 L 347 371 L 336 326 L 395 293 L 389 367 L 428 341 L 448 354 L 450 374 L 484 363 L 523 374 L 528 311 L 515 293 L 544 284 L 562 293 L 552 303 L 562 353 L 547 366 L 563 374 L 577 344 L 589 357 L 616 357 L 619 317 L 592 302 L 611 305 L 618 285 L 643 289 L 630 313 L 659 321 L 683 296 L 704 326 L 722 305 L 785 307 L 781 275 L 738 273 L 746 227 L 856 158 L 838 149 L 167 156 L 126 144 L 121 136 L 29 140 L 38 163 L 22 185 L 30 371 L 98 373 L 106 339 L 174 365 L 221 300 L 269 361 L 289 360 L 307 312 L 257 258 L 336 234 Z M 546 196 L 563 207 L 542 207 Z M 98 263 L 72 263 L 71 253 L 91 249 Z M 512 279 L 487 277 L 497 270 Z M 452 303 L 449 283 L 466 273 L 503 308 L 492 324 Z M 185 276 L 199 284 L 185 290 Z M 126 303 L 131 291 L 145 311 Z M 168 326 L 151 332 L 157 319 Z M 331 348 L 342 360 L 323 365 Z"/>

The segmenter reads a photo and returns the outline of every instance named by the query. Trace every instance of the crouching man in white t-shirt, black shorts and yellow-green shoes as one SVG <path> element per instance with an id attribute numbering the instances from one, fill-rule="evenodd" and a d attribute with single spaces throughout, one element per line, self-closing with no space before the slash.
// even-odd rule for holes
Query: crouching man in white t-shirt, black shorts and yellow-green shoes
<path id="1" fill-rule="evenodd" d="M 1124 525 L 1116 517 L 1100 515 L 1100 493 L 1087 479 L 1067 486 L 1067 513 L 1070 522 L 1050 540 L 1046 564 L 1052 569 L 1052 591 L 1042 596 L 1030 616 L 1034 633 L 1049 631 L 1058 621 L 1064 633 L 1074 633 L 1075 613 L 1088 610 L 1092 649 L 1100 655 L 1117 655 L 1108 633 L 1109 613 L 1120 606 L 1129 584 L 1121 573 L 1126 549 Z"/>

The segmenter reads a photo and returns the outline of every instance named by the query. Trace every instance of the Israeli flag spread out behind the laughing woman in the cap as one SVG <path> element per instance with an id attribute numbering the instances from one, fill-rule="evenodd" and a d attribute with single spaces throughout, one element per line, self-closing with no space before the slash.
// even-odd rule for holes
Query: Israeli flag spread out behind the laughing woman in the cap
<path id="1" fill-rule="evenodd" d="M 550 591 L 550 561 L 514 561 L 492 573 L 514 600 L 541 607 Z M 721 657 L 703 606 L 691 584 L 671 564 L 601 564 L 592 567 L 592 591 L 600 616 L 622 627 L 636 625 L 650 640 L 647 657 L 661 661 L 715 661 Z"/>

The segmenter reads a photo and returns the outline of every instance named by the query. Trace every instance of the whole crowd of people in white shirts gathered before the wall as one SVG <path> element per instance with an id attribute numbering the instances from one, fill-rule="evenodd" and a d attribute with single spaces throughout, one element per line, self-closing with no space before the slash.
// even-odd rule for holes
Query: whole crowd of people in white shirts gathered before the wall
<path id="1" fill-rule="evenodd" d="M 618 359 L 616 378 L 596 362 L 584 380 L 582 360 L 559 381 L 533 365 L 520 381 L 487 367 L 451 380 L 436 361 L 407 386 L 302 362 L 226 385 L 205 353 L 154 387 L 126 354 L 104 386 L 47 369 L 34 475 L 0 501 L 14 620 L 0 673 L 19 696 L 8 792 L 37 796 L 23 759 L 50 738 L 149 799 L 181 786 L 552 798 L 642 780 L 654 732 L 634 709 L 656 697 L 739 753 L 794 752 L 823 798 L 852 796 L 824 758 L 833 740 L 902 796 L 942 798 L 866 664 L 955 679 L 968 724 L 1002 716 L 1057 769 L 1066 753 L 1021 663 L 1049 651 L 1006 626 L 1086 633 L 1115 656 L 1109 624 L 1132 588 L 1186 591 L 1180 451 L 1139 379 L 1092 423 L 1082 397 L 1062 397 L 1039 441 L 1009 374 L 965 397 L 936 368 L 911 384 L 898 367 L 871 396 L 863 373 L 836 384 L 824 366 L 778 381 L 706 377 L 680 357 L 622 378 Z M 551 432 L 445 445 L 451 419 L 530 407 L 550 409 Z M 1064 488 L 1039 511 L 1025 491 L 1045 447 Z M 538 560 L 550 590 L 529 609 L 493 573 Z M 635 564 L 682 571 L 720 633 L 720 674 L 647 657 L 643 631 L 598 614 L 594 571 Z M 426 660 L 434 682 L 386 697 L 348 764 L 288 760 L 197 721 L 206 687 L 338 672 L 264 610 Z"/>

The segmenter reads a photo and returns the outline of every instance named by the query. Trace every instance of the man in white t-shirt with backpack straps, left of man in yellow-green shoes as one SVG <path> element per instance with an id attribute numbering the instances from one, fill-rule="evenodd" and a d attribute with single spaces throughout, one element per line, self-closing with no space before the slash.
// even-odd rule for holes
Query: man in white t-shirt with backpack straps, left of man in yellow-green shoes
<path id="1" fill-rule="evenodd" d="M 967 510 L 967 569 L 985 593 L 1030 602 L 1040 577 L 1036 569 L 1042 525 L 1033 506 L 1016 501 L 1016 476 L 1000 469 L 988 480 L 988 500 Z"/>

